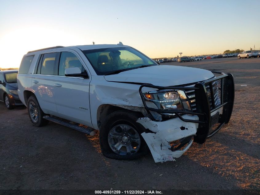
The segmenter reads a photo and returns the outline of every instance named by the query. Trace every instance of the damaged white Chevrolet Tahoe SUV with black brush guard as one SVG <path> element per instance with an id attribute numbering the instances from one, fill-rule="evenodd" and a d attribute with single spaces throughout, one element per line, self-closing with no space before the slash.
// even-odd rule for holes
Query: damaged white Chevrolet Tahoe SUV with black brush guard
<path id="1" fill-rule="evenodd" d="M 148 148 L 155 162 L 180 157 L 228 123 L 234 102 L 231 74 L 158 65 L 121 42 L 29 51 L 17 81 L 35 126 L 99 130 L 103 155 L 122 160 Z"/>

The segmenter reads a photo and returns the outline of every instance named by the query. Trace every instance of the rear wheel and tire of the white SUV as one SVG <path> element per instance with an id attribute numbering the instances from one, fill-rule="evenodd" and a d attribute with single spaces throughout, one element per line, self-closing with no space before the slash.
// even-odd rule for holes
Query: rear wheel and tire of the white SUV
<path id="1" fill-rule="evenodd" d="M 45 115 L 42 111 L 38 100 L 34 96 L 30 96 L 27 101 L 27 111 L 32 124 L 41 127 L 49 123 L 49 120 L 43 118 Z"/>

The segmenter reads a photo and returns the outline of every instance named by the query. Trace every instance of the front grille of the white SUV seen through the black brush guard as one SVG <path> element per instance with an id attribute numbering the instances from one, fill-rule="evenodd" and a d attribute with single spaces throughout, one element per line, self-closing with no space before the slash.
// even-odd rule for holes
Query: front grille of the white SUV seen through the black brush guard
<path id="1" fill-rule="evenodd" d="M 220 106 L 227 102 L 227 78 L 222 78 L 211 83 L 207 83 L 205 85 L 206 92 L 210 104 L 210 110 Z M 223 87 L 223 94 L 222 94 L 222 87 Z M 185 91 L 188 98 L 191 110 L 196 112 L 196 101 L 195 101 L 195 90 L 186 90 Z M 222 99 L 223 96 L 223 99 Z"/>

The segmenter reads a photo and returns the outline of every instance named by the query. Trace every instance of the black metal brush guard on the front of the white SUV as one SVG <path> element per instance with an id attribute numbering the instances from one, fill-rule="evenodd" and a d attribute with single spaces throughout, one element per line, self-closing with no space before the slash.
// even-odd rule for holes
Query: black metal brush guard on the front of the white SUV
<path id="1" fill-rule="evenodd" d="M 212 71 L 212 73 L 221 74 L 221 76 L 213 79 L 208 79 L 203 82 L 196 83 L 194 87 L 160 87 L 151 84 L 143 84 L 139 88 L 139 93 L 142 98 L 144 107 L 147 110 L 155 111 L 158 113 L 174 113 L 180 120 L 185 122 L 198 123 L 198 129 L 194 141 L 203 144 L 207 138 L 212 137 L 216 132 L 222 128 L 224 124 L 227 124 L 230 120 L 231 113 L 234 105 L 234 79 L 232 74 L 225 74 L 223 72 Z M 218 83 L 221 85 L 221 95 L 219 99 L 216 99 L 214 87 L 212 83 Z M 196 112 L 182 111 L 182 110 L 160 110 L 155 108 L 149 108 L 146 105 L 146 99 L 142 93 L 143 87 L 156 88 L 158 90 L 194 90 Z M 219 91 L 220 92 L 220 91 Z M 215 96 L 215 99 L 214 99 Z M 216 104 L 215 104 L 216 103 Z M 218 127 L 209 134 L 211 129 L 211 113 L 223 107 L 222 114 L 218 118 Z M 197 115 L 199 120 L 187 120 L 182 117 L 183 114 Z"/>

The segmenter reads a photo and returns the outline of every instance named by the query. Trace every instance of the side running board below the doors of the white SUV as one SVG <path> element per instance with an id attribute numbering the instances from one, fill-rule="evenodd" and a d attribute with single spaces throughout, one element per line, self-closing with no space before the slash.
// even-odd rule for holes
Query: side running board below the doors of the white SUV
<path id="1" fill-rule="evenodd" d="M 54 117 L 51 117 L 51 116 L 48 116 L 48 115 L 43 116 L 43 118 L 46 119 L 46 120 L 50 120 L 50 121 L 52 121 L 54 123 L 58 123 L 58 124 L 61 124 L 63 126 L 66 126 L 66 127 L 69 127 L 69 128 L 72 128 L 72 129 L 75 129 L 75 130 L 78 130 L 78 131 L 81 131 L 81 132 L 86 133 L 86 134 L 88 134 L 90 136 L 94 136 L 96 134 L 96 132 L 94 132 L 94 129 L 90 128 L 90 127 L 88 127 L 88 128 L 80 127 L 80 126 L 78 126 L 76 124 L 70 124 L 69 122 L 65 122 L 63 120 L 60 120 L 60 119 L 57 119 L 57 118 L 54 118 Z"/>

